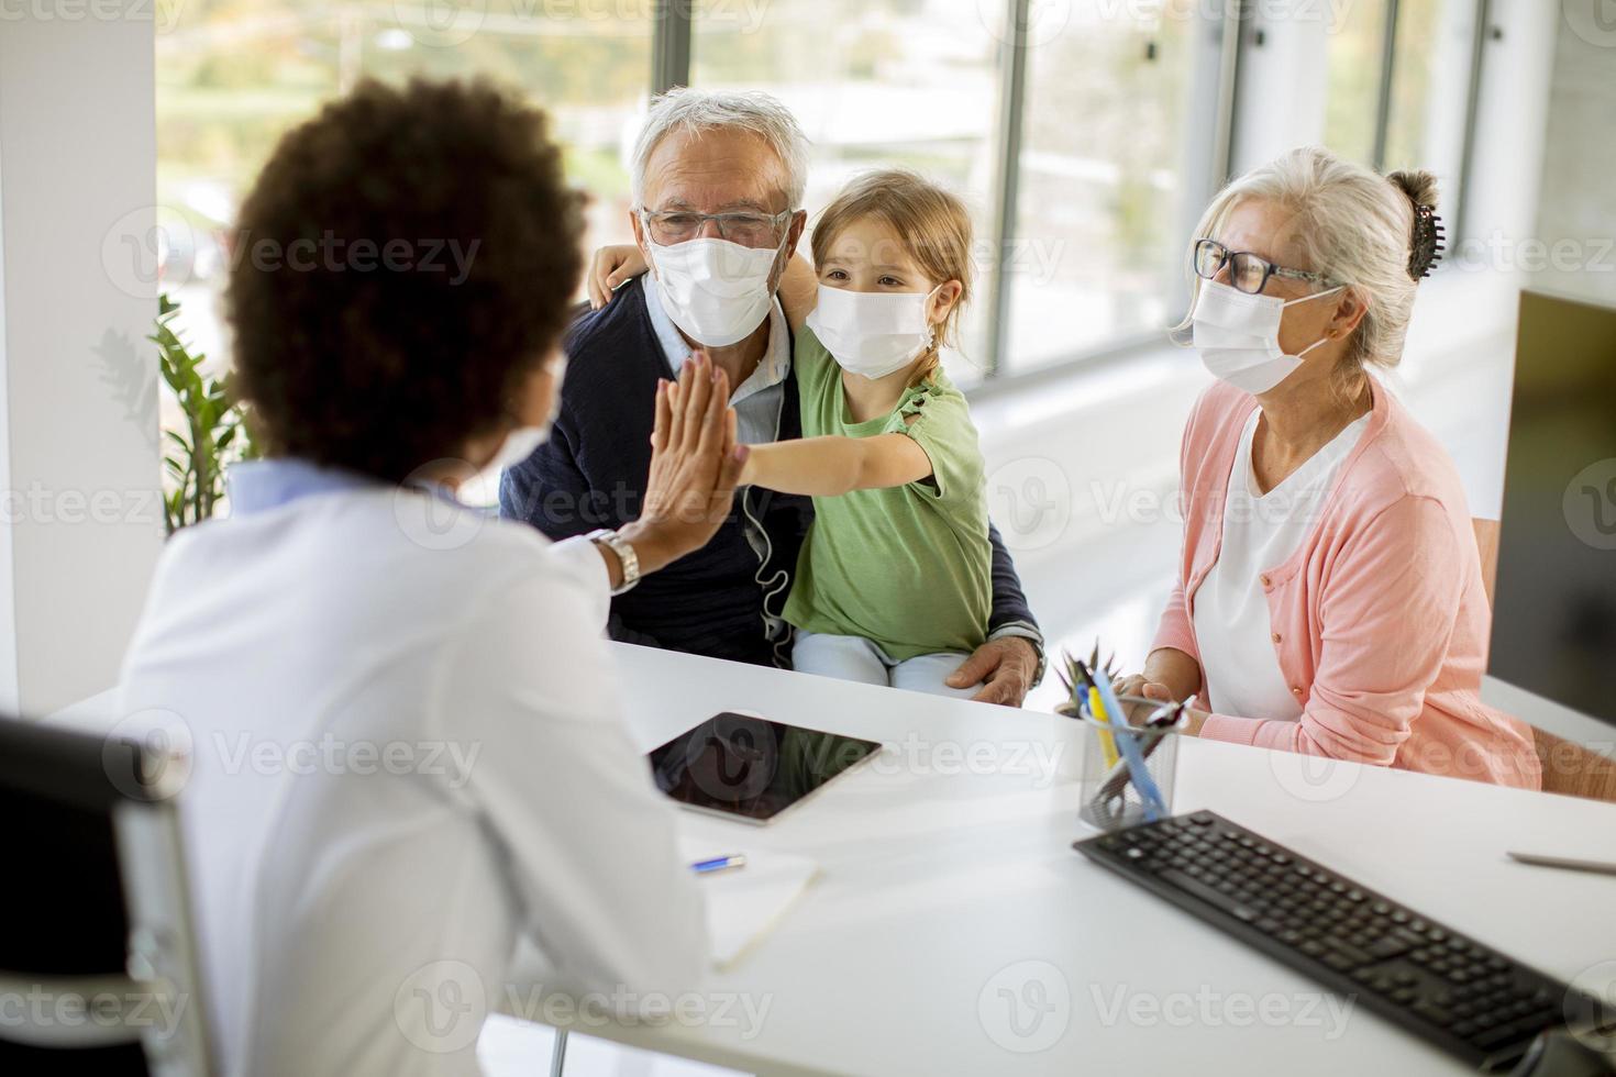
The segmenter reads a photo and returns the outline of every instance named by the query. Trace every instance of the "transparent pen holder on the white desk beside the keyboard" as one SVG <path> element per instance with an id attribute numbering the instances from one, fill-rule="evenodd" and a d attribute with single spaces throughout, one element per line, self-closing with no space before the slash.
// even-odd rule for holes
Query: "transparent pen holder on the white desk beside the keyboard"
<path id="1" fill-rule="evenodd" d="M 1128 709 L 1146 709 L 1159 723 L 1110 725 L 1073 714 L 1071 707 L 1060 709 L 1065 720 L 1081 725 L 1078 786 L 1083 807 L 1078 817 L 1105 832 L 1165 819 L 1173 811 L 1178 785 L 1180 725 L 1167 723 L 1172 709 L 1143 696 L 1123 696 L 1120 702 Z"/>

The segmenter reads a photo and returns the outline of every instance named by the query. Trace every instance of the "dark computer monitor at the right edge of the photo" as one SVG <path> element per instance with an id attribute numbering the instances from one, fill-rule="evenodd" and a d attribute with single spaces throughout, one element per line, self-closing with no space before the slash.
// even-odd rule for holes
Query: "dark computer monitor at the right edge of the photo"
<path id="1" fill-rule="evenodd" d="M 1488 672 L 1616 723 L 1616 308 L 1521 295 Z"/>

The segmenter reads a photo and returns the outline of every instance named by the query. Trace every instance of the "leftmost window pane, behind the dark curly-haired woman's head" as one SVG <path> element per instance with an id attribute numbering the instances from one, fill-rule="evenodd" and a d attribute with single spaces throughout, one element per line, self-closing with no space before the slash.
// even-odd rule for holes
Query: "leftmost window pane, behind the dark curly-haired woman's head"
<path id="1" fill-rule="evenodd" d="M 546 15 L 554 10 L 561 15 Z M 163 287 L 218 355 L 225 229 L 275 140 L 362 76 L 486 74 L 549 108 L 593 239 L 621 236 L 625 139 L 651 82 L 648 3 L 189 0 L 157 39 Z M 593 242 L 591 239 L 591 242 Z"/>

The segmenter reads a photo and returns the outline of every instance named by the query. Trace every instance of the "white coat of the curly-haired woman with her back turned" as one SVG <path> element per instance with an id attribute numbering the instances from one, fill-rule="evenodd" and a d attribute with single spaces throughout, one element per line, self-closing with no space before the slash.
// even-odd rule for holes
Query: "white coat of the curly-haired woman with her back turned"
<path id="1" fill-rule="evenodd" d="M 192 740 L 178 804 L 226 1074 L 475 1074 L 519 941 L 546 988 L 674 996 L 705 970 L 601 557 L 422 497 L 187 528 L 126 659 L 123 714 Z"/>

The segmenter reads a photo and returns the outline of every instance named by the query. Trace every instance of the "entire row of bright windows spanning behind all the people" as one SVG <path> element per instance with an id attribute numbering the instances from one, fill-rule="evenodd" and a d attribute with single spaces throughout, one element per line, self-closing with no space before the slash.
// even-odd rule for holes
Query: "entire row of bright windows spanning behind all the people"
<path id="1" fill-rule="evenodd" d="M 1322 86 L 1319 137 L 1430 168 L 1450 220 L 1477 5 L 1325 5 L 1314 45 L 1293 45 L 1317 47 L 1299 79 Z M 1188 229 L 1231 132 L 1267 119 L 1231 103 L 1264 18 L 1254 0 L 189 0 L 157 45 L 163 283 L 196 344 L 225 350 L 223 236 L 242 192 L 289 124 L 365 74 L 525 89 L 593 195 L 591 244 L 629 236 L 629 152 L 654 90 L 750 87 L 813 140 L 811 215 L 881 165 L 966 199 L 978 295 L 949 368 L 1013 379 L 1160 339 L 1181 315 Z"/>

